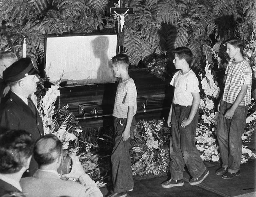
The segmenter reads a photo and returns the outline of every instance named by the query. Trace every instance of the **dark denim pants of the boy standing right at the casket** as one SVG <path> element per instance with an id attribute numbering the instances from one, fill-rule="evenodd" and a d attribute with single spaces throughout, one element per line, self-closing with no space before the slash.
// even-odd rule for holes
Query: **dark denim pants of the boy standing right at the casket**
<path id="1" fill-rule="evenodd" d="M 126 118 L 115 118 L 114 117 L 114 148 L 111 154 L 112 163 L 112 181 L 114 185 L 114 192 L 126 192 L 133 188 L 133 177 L 131 170 L 131 158 L 130 158 L 130 141 L 123 141 L 121 137 L 126 126 Z M 135 118 L 132 119 L 130 128 L 130 136 L 135 129 Z"/>

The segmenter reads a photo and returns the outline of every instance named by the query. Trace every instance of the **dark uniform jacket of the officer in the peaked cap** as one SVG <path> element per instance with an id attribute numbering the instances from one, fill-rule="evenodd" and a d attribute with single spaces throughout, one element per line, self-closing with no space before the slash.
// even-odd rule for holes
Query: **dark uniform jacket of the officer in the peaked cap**
<path id="1" fill-rule="evenodd" d="M 0 132 L 4 129 L 21 129 L 29 132 L 35 141 L 43 136 L 43 122 L 36 110 L 36 115 L 26 103 L 10 91 L 0 104 Z M 34 158 L 31 159 L 29 171 L 24 176 L 32 176 L 38 169 Z"/>

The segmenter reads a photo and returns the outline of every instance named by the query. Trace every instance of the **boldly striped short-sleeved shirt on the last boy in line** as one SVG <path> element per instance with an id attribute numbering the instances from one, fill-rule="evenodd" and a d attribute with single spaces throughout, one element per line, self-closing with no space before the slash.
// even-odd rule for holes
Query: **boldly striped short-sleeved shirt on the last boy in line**
<path id="1" fill-rule="evenodd" d="M 248 62 L 246 60 L 234 62 L 234 58 L 231 58 L 227 64 L 225 74 L 227 75 L 227 78 L 223 93 L 223 101 L 234 103 L 241 91 L 241 85 L 248 85 L 246 95 L 239 106 L 251 104 L 252 70 Z"/>

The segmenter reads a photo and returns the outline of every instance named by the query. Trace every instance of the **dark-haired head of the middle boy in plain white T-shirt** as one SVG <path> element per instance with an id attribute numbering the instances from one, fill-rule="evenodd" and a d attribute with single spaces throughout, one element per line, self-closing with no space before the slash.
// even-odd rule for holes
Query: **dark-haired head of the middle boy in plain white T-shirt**
<path id="1" fill-rule="evenodd" d="M 174 50 L 173 63 L 176 69 L 181 69 L 182 66 L 188 64 L 190 66 L 193 54 L 191 50 L 187 47 L 178 47 Z"/>

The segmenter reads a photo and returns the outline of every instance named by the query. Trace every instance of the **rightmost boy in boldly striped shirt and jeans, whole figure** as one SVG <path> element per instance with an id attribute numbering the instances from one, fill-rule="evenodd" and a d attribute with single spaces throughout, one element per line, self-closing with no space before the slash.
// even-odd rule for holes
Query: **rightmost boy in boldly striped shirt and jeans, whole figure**
<path id="1" fill-rule="evenodd" d="M 222 167 L 216 171 L 224 179 L 240 175 L 242 133 L 246 124 L 248 105 L 251 104 L 252 70 L 243 58 L 244 42 L 238 38 L 228 39 L 227 54 L 230 61 L 225 71 L 223 97 L 218 105 L 220 112 L 217 138 Z"/>

